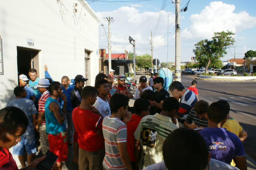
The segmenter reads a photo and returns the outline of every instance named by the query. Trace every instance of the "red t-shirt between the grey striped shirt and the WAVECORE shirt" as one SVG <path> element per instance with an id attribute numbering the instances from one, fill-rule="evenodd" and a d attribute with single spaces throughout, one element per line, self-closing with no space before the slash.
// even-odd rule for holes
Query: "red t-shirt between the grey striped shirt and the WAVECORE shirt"
<path id="1" fill-rule="evenodd" d="M 130 160 L 132 162 L 136 162 L 135 154 L 134 154 L 134 133 L 138 127 L 138 124 L 140 123 L 142 117 L 132 114 L 131 120 L 126 124 L 127 126 L 127 151 L 130 156 Z"/>

